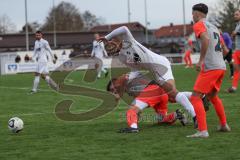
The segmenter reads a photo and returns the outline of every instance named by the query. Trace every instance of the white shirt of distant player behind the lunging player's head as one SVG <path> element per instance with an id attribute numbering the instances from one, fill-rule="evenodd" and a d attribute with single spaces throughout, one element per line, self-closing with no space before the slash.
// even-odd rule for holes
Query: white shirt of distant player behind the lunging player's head
<path id="1" fill-rule="evenodd" d="M 104 43 L 103 42 L 97 42 L 96 40 L 93 41 L 93 49 L 91 56 L 95 56 L 97 58 L 102 59 L 103 56 L 107 57 L 107 51 L 105 50 Z"/>

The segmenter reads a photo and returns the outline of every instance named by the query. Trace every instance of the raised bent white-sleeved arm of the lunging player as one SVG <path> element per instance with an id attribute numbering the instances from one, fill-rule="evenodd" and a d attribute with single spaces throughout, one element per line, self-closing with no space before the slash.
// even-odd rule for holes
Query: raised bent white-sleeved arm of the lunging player
<path id="1" fill-rule="evenodd" d="M 120 35 L 126 35 L 128 38 L 134 39 L 133 35 L 131 34 L 131 32 L 129 31 L 128 27 L 126 27 L 126 26 L 122 26 L 122 27 L 119 27 L 119 28 L 113 30 L 111 33 L 106 35 L 105 38 L 106 38 L 106 40 L 109 41 L 112 38 L 120 36 Z"/>

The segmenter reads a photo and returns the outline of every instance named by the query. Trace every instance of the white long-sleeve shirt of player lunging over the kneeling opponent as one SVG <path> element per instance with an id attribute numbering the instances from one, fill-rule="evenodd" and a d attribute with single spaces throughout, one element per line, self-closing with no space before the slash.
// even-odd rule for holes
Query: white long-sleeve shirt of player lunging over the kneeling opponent
<path id="1" fill-rule="evenodd" d="M 107 40 L 118 37 L 122 40 L 119 59 L 125 65 L 135 69 L 157 69 L 165 74 L 170 62 L 164 56 L 158 55 L 137 42 L 126 26 L 119 27 L 105 36 Z M 167 67 L 165 67 L 167 66 Z"/>

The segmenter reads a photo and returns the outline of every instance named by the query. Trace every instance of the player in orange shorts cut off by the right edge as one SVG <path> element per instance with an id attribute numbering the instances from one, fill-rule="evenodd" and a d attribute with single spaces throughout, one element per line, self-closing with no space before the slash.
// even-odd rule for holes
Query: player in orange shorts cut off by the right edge
<path id="1" fill-rule="evenodd" d="M 229 93 L 236 92 L 238 87 L 238 80 L 240 76 L 240 10 L 237 10 L 234 13 L 234 19 L 237 22 L 237 26 L 235 30 L 232 32 L 232 36 L 235 37 L 235 51 L 232 55 L 234 73 L 233 73 L 232 86 L 227 90 Z"/>

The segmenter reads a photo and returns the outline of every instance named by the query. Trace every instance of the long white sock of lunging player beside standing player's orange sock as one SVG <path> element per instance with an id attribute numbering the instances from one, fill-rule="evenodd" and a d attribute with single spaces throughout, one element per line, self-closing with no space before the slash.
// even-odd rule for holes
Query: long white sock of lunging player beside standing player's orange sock
<path id="1" fill-rule="evenodd" d="M 191 114 L 192 117 L 196 116 L 193 105 L 191 104 L 187 96 L 185 96 L 185 94 L 183 94 L 182 92 L 178 92 L 175 100 L 176 102 L 181 104 L 185 108 L 185 110 L 187 110 L 187 112 Z"/>

